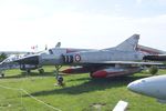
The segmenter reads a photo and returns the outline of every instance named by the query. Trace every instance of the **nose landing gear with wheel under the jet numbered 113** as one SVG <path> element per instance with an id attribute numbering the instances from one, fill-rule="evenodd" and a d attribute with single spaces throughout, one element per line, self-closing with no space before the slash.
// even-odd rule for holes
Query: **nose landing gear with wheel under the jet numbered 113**
<path id="1" fill-rule="evenodd" d="M 55 79 L 58 81 L 56 84 L 63 87 L 64 85 L 63 77 L 59 74 L 62 65 L 55 65 Z"/>

